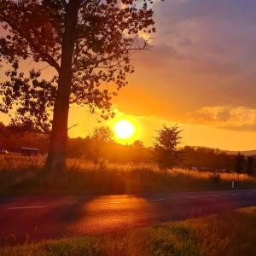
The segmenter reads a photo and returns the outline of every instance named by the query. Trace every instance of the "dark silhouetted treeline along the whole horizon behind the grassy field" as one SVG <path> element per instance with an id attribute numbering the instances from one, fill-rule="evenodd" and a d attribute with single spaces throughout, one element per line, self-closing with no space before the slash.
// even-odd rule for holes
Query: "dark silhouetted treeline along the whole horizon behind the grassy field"
<path id="1" fill-rule="evenodd" d="M 20 152 L 21 147 L 40 148 L 47 153 L 49 137 L 36 131 L 20 131 L 12 126 L 0 123 L 0 149 L 10 152 Z M 177 166 L 201 171 L 246 172 L 256 173 L 256 158 L 243 154 L 226 154 L 224 151 L 212 148 L 194 148 L 186 146 L 178 149 Z M 154 148 L 147 148 L 137 141 L 131 145 L 121 145 L 111 140 L 99 141 L 95 136 L 85 138 L 68 138 L 67 157 L 83 158 L 97 162 L 100 159 L 119 163 L 157 163 Z"/>

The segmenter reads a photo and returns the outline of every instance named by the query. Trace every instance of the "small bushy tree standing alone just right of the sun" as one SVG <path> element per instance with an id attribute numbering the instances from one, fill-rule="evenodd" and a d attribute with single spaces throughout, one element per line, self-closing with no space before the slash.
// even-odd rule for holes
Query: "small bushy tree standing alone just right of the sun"
<path id="1" fill-rule="evenodd" d="M 181 160 L 181 150 L 177 149 L 182 139 L 181 132 L 177 125 L 163 125 L 162 129 L 157 131 L 157 136 L 154 137 L 154 158 L 161 168 L 172 168 Z"/>

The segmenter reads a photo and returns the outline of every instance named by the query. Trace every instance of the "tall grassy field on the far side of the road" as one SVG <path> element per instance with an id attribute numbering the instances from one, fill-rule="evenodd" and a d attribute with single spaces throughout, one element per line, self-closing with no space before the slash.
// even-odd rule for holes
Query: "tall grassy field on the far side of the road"
<path id="1" fill-rule="evenodd" d="M 67 171 L 57 180 L 45 175 L 43 157 L 0 156 L 0 195 L 109 195 L 164 191 L 231 189 L 236 174 L 189 170 L 160 171 L 154 165 L 96 165 L 67 160 Z M 256 188 L 255 177 L 240 175 L 239 189 Z"/>

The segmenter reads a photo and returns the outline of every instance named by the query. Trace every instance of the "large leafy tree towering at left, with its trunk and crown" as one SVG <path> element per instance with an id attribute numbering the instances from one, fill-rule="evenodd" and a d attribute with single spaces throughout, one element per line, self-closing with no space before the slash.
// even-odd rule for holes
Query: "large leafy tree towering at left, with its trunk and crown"
<path id="1" fill-rule="evenodd" d="M 148 49 L 140 35 L 155 32 L 152 0 L 0 0 L 0 56 L 7 80 L 0 86 L 14 122 L 32 120 L 51 133 L 47 170 L 65 166 L 70 104 L 88 105 L 101 117 L 113 116 L 111 99 L 133 73 L 131 52 Z M 21 61 L 46 63 L 55 74 L 44 79 L 38 65 L 22 70 Z M 9 66 L 6 65 L 9 64 Z M 38 68 L 36 68 L 38 67 Z M 102 84 L 104 87 L 102 88 Z M 116 89 L 106 89 L 115 84 Z"/>

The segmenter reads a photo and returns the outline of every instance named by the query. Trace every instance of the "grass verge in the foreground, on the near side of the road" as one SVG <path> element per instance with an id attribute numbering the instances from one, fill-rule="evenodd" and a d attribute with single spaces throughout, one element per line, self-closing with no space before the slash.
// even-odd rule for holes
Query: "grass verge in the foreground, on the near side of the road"
<path id="1" fill-rule="evenodd" d="M 121 233 L 82 236 L 18 247 L 17 255 L 256 255 L 256 207 Z"/>

